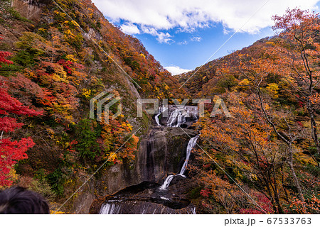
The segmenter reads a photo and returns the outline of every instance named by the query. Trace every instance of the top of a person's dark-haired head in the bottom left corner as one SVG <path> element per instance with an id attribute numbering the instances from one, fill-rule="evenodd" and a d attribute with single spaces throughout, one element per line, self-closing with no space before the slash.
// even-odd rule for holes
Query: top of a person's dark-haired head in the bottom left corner
<path id="1" fill-rule="evenodd" d="M 0 214 L 50 214 L 46 199 L 23 187 L 0 192 Z"/>

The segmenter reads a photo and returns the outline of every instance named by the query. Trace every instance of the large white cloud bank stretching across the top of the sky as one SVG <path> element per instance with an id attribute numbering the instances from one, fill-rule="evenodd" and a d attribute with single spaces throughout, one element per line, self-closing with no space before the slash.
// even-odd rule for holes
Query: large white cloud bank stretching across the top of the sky
<path id="1" fill-rule="evenodd" d="M 156 31 L 178 28 L 179 31 L 192 32 L 196 28 L 209 26 L 210 23 L 222 23 L 225 31 L 238 31 L 245 24 L 240 29 L 241 32 L 257 33 L 261 28 L 272 25 L 271 16 L 274 14 L 282 15 L 287 8 L 296 6 L 300 9 L 316 9 L 318 0 L 269 0 L 266 4 L 266 0 L 93 1 L 113 21 L 122 19 Z M 260 9 L 263 4 L 265 5 Z M 167 33 L 156 36 L 164 42 L 170 37 Z"/>

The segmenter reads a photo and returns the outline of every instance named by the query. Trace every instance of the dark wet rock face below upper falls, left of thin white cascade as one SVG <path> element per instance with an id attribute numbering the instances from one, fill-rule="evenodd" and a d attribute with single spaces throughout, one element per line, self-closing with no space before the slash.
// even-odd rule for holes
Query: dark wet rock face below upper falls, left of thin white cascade
<path id="1" fill-rule="evenodd" d="M 188 141 L 195 135 L 196 131 L 181 128 L 151 130 L 140 143 L 136 164 L 138 182 L 163 182 L 166 175 L 180 172 Z"/>

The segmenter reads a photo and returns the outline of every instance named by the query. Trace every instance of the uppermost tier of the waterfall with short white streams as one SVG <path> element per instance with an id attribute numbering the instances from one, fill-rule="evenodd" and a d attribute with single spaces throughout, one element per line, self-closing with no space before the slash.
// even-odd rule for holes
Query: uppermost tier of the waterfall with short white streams
<path id="1" fill-rule="evenodd" d="M 160 106 L 154 120 L 158 126 L 189 128 L 198 120 L 198 106 Z"/>

